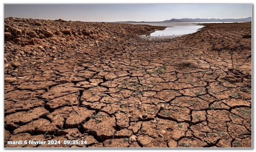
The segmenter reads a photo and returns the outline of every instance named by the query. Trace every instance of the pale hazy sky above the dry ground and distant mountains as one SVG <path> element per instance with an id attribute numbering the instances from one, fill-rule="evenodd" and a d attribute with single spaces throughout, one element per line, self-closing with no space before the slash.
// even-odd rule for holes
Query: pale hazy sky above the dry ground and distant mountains
<path id="1" fill-rule="evenodd" d="M 251 4 L 4 4 L 4 17 L 85 22 L 247 18 Z"/>

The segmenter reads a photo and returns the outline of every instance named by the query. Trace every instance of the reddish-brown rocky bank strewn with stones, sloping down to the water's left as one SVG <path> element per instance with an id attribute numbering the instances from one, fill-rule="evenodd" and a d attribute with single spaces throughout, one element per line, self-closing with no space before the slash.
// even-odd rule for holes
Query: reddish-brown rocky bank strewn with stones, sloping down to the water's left
<path id="1" fill-rule="evenodd" d="M 37 63 L 47 64 L 52 60 L 75 57 L 79 53 L 111 48 L 112 44 L 150 34 L 155 29 L 164 27 L 4 18 L 5 77 L 17 76 L 30 67 L 34 69 Z"/>

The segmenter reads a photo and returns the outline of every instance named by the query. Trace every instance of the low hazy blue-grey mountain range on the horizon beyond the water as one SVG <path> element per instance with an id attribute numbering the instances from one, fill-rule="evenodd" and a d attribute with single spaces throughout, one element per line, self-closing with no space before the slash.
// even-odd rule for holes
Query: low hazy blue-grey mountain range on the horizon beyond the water
<path id="1" fill-rule="evenodd" d="M 219 19 L 219 18 L 182 18 L 182 19 L 176 19 L 173 18 L 171 20 L 164 20 L 160 22 L 251 22 L 252 17 L 248 18 L 224 18 L 224 19 Z M 136 22 L 136 21 L 120 21 L 120 22 L 115 22 L 115 23 L 143 23 L 142 22 Z"/>

